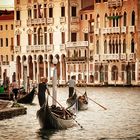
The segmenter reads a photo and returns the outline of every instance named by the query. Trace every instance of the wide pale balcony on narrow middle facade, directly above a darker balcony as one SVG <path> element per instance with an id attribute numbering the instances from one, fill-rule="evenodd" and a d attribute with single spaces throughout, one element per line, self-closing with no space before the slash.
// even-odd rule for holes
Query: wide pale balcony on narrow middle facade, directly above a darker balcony
<path id="1" fill-rule="evenodd" d="M 88 41 L 67 42 L 66 47 L 87 47 Z"/>

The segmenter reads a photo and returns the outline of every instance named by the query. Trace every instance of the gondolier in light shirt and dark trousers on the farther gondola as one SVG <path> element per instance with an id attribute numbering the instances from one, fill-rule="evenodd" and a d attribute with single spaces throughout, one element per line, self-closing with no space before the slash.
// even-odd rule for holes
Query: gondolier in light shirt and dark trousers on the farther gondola
<path id="1" fill-rule="evenodd" d="M 66 83 L 66 85 L 69 86 L 69 97 L 71 97 L 73 95 L 74 87 L 76 85 L 74 76 L 71 76 L 71 79 Z"/>

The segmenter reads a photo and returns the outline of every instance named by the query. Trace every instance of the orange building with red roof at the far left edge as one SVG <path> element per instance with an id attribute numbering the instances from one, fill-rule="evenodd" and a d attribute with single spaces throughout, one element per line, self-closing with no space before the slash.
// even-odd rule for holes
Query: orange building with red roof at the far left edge
<path id="1" fill-rule="evenodd" d="M 14 62 L 14 11 L 0 10 L 0 80 L 13 80 Z"/>

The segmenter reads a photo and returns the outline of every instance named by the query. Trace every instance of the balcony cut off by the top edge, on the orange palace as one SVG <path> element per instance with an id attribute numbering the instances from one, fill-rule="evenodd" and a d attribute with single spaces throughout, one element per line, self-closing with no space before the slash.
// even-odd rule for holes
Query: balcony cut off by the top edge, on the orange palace
<path id="1" fill-rule="evenodd" d="M 122 0 L 108 0 L 108 8 L 122 6 Z"/>

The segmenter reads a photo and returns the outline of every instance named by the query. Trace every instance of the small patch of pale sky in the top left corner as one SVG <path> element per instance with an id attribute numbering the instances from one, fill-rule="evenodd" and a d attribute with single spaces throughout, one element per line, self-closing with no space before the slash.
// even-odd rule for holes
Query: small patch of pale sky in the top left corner
<path id="1" fill-rule="evenodd" d="M 0 0 L 0 9 L 14 7 L 14 0 Z"/>

